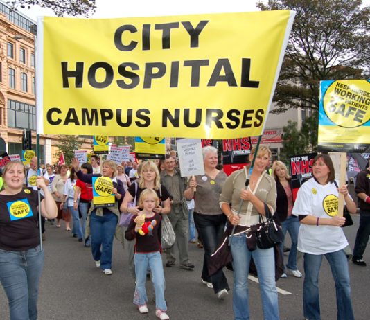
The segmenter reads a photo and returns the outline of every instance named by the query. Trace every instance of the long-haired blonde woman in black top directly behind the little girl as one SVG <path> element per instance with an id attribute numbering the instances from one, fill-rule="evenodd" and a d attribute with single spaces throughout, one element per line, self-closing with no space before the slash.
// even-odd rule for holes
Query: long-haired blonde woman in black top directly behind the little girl
<path id="1" fill-rule="evenodd" d="M 128 188 L 127 193 L 125 194 L 125 197 L 123 198 L 123 202 L 121 204 L 121 213 L 132 213 L 132 215 L 137 215 L 140 213 L 142 209 L 140 209 L 139 206 L 136 205 L 129 207 L 128 204 L 134 202 L 134 199 L 136 199 L 136 204 L 139 204 L 141 191 L 144 189 L 153 189 L 159 197 L 159 204 L 161 204 L 153 211 L 155 211 L 155 213 L 168 215 L 168 213 L 171 212 L 170 194 L 168 193 L 166 187 L 161 185 L 160 178 L 161 177 L 159 176 L 158 168 L 154 161 L 144 162 L 143 166 L 141 167 L 139 179 L 131 184 L 130 188 Z M 127 247 L 130 272 L 133 278 L 135 278 L 133 242 L 128 242 Z"/>

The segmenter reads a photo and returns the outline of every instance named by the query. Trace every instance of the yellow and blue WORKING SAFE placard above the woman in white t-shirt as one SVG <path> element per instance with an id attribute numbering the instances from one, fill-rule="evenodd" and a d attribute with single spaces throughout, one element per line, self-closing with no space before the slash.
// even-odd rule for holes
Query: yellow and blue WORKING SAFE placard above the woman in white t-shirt
<path id="1" fill-rule="evenodd" d="M 370 80 L 321 81 L 321 151 L 365 152 L 370 146 Z"/>

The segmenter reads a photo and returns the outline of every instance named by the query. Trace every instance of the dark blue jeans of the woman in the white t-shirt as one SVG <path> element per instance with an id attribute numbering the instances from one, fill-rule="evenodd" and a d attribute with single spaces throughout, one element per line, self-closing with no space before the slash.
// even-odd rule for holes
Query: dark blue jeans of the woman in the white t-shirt
<path id="1" fill-rule="evenodd" d="M 319 272 L 322 257 L 331 266 L 337 295 L 337 320 L 353 320 L 351 287 L 346 254 L 343 250 L 330 254 L 304 254 L 303 314 L 308 320 L 321 320 L 319 304 Z"/>

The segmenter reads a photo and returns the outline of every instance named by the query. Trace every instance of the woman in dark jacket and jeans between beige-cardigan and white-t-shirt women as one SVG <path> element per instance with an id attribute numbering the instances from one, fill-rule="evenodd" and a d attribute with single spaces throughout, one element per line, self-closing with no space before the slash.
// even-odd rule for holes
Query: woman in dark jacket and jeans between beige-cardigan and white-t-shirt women
<path id="1" fill-rule="evenodd" d="M 289 232 L 292 245 L 290 247 L 288 263 L 286 269 L 290 270 L 293 276 L 301 278 L 302 274 L 297 268 L 297 241 L 299 231 L 298 217 L 292 215 L 293 209 L 293 193 L 292 185 L 290 184 L 290 176 L 285 164 L 281 161 L 275 161 L 272 165 L 272 175 L 276 181 L 276 221 L 281 224 L 283 229 L 284 239 L 286 231 Z M 284 240 L 280 244 L 281 256 L 284 252 Z M 284 265 L 285 268 L 285 265 Z M 284 272 L 281 278 L 286 278 L 287 274 Z"/>

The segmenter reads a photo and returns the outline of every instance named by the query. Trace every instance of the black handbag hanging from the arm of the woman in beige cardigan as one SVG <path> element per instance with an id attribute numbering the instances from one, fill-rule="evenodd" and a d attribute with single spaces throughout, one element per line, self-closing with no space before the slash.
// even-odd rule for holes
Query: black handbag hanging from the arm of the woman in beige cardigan
<path id="1" fill-rule="evenodd" d="M 256 244 L 260 249 L 269 249 L 283 241 L 284 235 L 281 226 L 272 219 L 270 208 L 265 204 L 265 216 L 267 220 L 263 222 L 260 215 L 259 227 L 256 230 Z"/>

